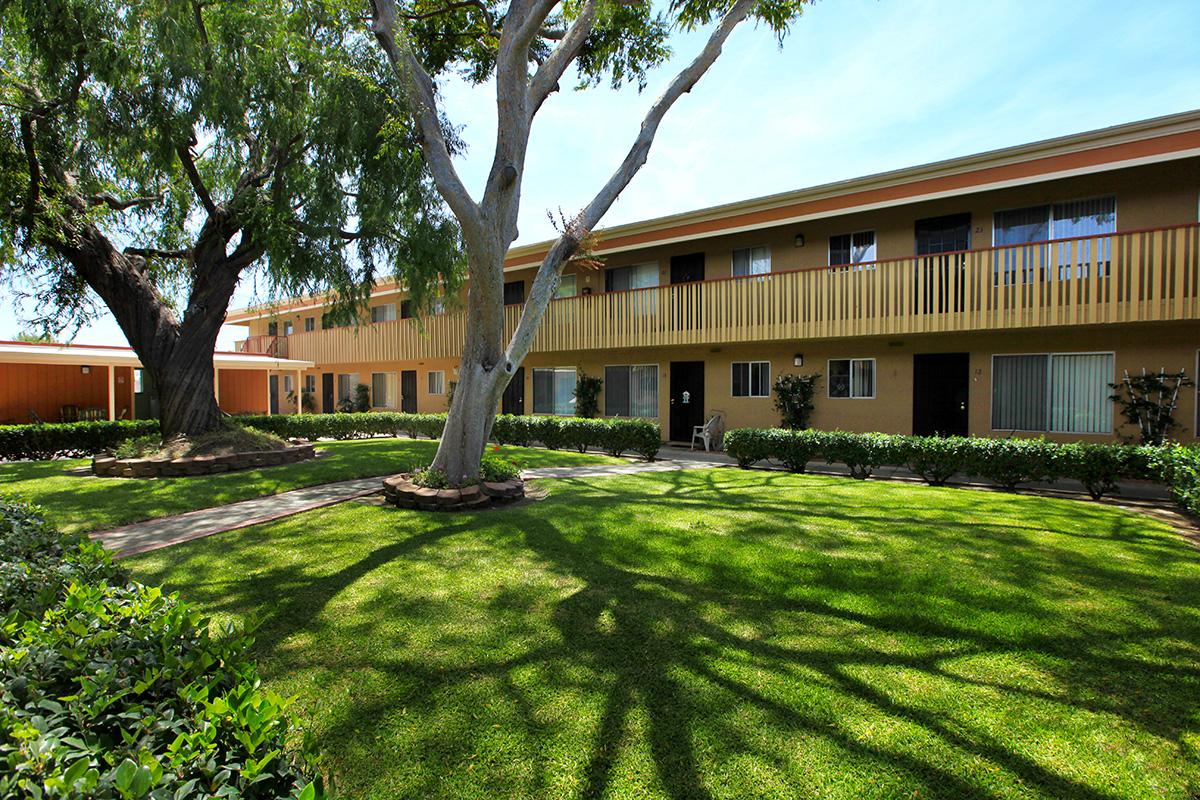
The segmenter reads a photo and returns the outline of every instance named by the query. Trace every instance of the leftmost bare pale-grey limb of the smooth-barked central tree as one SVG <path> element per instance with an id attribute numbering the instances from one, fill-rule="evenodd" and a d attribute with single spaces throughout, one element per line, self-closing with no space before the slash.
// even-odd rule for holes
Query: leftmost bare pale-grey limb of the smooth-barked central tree
<path id="1" fill-rule="evenodd" d="M 438 193 L 458 218 L 468 241 L 480 242 L 482 240 L 482 218 L 479 206 L 472 199 L 467 187 L 463 186 L 462 179 L 458 178 L 458 172 L 454 167 L 454 161 L 450 158 L 450 148 L 442 133 L 442 120 L 438 116 L 437 100 L 433 95 L 433 80 L 413 53 L 407 35 L 398 30 L 400 12 L 395 0 L 372 0 L 371 8 L 371 30 L 404 89 L 409 110 L 421 134 L 421 151 L 425 154 L 425 163 L 433 175 Z"/>

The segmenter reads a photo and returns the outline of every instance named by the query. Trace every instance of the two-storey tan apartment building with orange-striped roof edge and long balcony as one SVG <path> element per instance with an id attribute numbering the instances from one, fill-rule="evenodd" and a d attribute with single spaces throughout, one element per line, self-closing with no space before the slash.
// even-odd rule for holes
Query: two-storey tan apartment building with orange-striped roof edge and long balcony
<path id="1" fill-rule="evenodd" d="M 815 372 L 820 428 L 1120 435 L 1123 371 L 1196 372 L 1198 211 L 1193 112 L 613 227 L 604 269 L 564 275 L 502 410 L 570 414 L 586 372 L 604 414 L 688 440 L 714 411 L 778 425 L 775 378 Z M 547 246 L 508 257 L 510 330 Z M 457 300 L 424 330 L 397 285 L 356 326 L 323 326 L 319 297 L 228 321 L 247 351 L 313 362 L 318 410 L 362 383 L 377 408 L 438 411 Z M 1177 416 L 1194 437 L 1194 391 Z"/>

